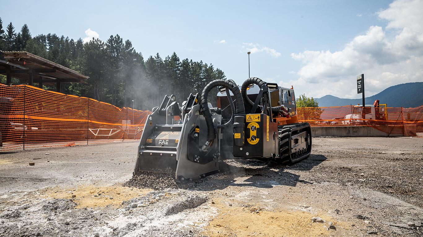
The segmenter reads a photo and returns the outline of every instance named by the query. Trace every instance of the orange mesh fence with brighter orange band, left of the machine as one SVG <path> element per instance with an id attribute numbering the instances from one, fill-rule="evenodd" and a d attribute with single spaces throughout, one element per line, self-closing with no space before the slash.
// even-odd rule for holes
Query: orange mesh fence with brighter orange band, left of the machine
<path id="1" fill-rule="evenodd" d="M 0 84 L 1 151 L 139 139 L 150 111 Z"/>

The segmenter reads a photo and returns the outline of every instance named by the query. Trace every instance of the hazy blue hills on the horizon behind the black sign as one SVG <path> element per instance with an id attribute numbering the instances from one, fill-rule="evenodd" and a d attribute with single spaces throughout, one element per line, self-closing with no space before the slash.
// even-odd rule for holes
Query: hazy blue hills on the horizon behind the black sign
<path id="1" fill-rule="evenodd" d="M 316 99 L 320 107 L 357 105 L 362 104 L 362 99 L 342 99 L 333 95 L 325 95 Z M 414 108 L 423 105 L 423 82 L 410 82 L 390 86 L 382 92 L 371 97 L 366 97 L 366 105 L 373 105 L 375 100 L 388 107 Z"/>

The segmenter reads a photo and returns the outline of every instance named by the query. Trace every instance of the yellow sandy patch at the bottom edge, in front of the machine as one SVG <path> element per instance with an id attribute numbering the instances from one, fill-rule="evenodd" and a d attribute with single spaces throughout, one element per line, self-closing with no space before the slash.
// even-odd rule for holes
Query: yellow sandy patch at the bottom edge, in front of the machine
<path id="1" fill-rule="evenodd" d="M 298 210 L 268 211 L 259 205 L 228 204 L 217 200 L 219 215 L 209 222 L 203 234 L 209 237 L 246 237 L 246 236 L 329 236 L 352 234 L 351 224 L 336 221 L 325 214 L 312 214 Z M 312 218 L 319 216 L 325 223 L 313 223 Z M 328 230 L 329 221 L 336 230 Z M 354 236 L 354 234 L 349 235 Z"/>

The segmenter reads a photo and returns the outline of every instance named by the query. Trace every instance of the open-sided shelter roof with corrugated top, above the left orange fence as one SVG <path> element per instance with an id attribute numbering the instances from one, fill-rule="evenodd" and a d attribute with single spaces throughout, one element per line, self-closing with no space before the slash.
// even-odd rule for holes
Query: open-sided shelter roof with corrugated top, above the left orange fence
<path id="1" fill-rule="evenodd" d="M 26 51 L 0 51 L 4 59 L 0 60 L 0 74 L 6 75 L 6 84 L 11 84 L 11 78 L 27 81 L 28 85 L 38 83 L 42 88 L 43 83 L 56 84 L 60 92 L 60 83 L 78 82 L 83 83 L 89 77 L 77 71 L 71 70 L 55 62 Z"/>

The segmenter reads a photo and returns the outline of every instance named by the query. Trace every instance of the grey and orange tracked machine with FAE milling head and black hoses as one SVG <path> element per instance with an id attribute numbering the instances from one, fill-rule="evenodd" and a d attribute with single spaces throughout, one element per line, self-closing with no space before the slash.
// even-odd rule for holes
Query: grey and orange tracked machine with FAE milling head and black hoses
<path id="1" fill-rule="evenodd" d="M 217 87 L 217 107 L 207 97 Z M 297 119 L 294 90 L 259 78 L 241 89 L 232 80 L 211 81 L 179 104 L 166 95 L 146 121 L 134 174 L 164 172 L 178 182 L 219 172 L 222 159 L 294 163 L 311 152 L 311 129 Z"/>

